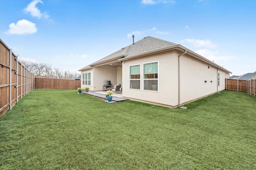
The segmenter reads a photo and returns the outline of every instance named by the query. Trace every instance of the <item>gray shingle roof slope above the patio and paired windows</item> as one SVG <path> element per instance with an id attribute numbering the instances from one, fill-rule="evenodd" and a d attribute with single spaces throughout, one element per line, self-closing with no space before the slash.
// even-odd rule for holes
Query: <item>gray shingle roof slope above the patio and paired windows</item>
<path id="1" fill-rule="evenodd" d="M 160 40 L 158 38 L 148 36 L 148 37 L 145 37 L 142 40 L 135 42 L 134 44 L 128 45 L 127 47 L 124 47 L 124 48 L 90 64 L 90 65 L 94 65 L 96 63 L 100 63 L 103 61 L 108 61 L 110 59 L 114 59 L 115 57 L 120 57 L 120 58 L 122 56 L 129 57 L 132 55 L 138 55 L 138 54 L 142 54 L 142 53 L 145 53 L 148 51 L 154 51 L 156 49 L 169 47 L 172 45 L 176 45 L 176 43 L 172 43 L 172 42 L 168 42 L 168 41 L 164 41 L 164 40 Z"/>

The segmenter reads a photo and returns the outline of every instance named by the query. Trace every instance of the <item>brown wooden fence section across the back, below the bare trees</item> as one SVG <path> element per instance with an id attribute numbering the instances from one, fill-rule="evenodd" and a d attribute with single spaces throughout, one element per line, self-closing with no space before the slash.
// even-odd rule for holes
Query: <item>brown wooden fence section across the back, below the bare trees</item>
<path id="1" fill-rule="evenodd" d="M 81 80 L 35 78 L 35 89 L 78 89 Z"/>

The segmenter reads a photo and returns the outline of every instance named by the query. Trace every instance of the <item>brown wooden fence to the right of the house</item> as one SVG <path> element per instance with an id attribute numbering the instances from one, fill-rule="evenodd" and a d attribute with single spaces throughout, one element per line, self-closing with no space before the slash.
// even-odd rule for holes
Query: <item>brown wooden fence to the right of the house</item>
<path id="1" fill-rule="evenodd" d="M 256 80 L 226 79 L 226 90 L 241 91 L 255 96 Z"/>

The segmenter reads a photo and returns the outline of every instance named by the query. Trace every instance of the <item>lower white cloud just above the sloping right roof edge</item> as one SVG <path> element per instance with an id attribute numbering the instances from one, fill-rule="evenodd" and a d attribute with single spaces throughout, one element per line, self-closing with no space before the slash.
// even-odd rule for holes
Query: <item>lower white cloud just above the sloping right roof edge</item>
<path id="1" fill-rule="evenodd" d="M 209 59 L 210 61 L 220 61 L 220 60 L 231 60 L 231 59 L 235 59 L 236 57 L 233 57 L 231 55 L 225 56 L 225 55 L 218 55 L 218 51 L 212 52 L 208 49 L 199 49 L 197 51 L 195 51 L 196 53 L 198 53 L 199 55 L 202 55 L 203 57 Z"/>

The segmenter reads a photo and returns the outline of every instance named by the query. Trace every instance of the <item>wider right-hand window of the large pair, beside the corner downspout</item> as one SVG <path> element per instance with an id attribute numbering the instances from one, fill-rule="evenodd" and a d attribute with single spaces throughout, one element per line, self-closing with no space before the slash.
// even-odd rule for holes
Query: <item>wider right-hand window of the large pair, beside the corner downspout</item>
<path id="1" fill-rule="evenodd" d="M 158 91 L 158 61 L 143 64 L 144 90 Z"/>

